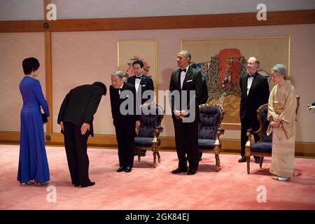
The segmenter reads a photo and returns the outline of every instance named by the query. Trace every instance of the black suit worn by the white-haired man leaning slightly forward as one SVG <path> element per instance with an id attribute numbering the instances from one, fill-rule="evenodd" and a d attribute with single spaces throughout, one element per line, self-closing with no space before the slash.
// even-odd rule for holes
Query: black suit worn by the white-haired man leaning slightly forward
<path id="1" fill-rule="evenodd" d="M 130 94 L 127 94 L 125 99 L 120 99 L 119 90 L 115 89 L 113 85 L 109 87 L 109 93 L 111 95 L 111 114 L 113 116 L 113 125 L 116 130 L 116 139 L 118 143 L 118 158 L 119 165 L 124 169 L 126 167 L 133 167 L 134 164 L 134 134 L 136 127 L 136 120 L 140 120 L 140 116 L 136 115 L 136 89 L 134 85 L 130 83 L 123 83 L 121 92 L 129 90 Z M 132 94 L 132 95 L 131 95 Z M 132 114 L 123 115 L 120 112 L 120 105 L 129 97 L 133 98 L 133 110 Z"/>

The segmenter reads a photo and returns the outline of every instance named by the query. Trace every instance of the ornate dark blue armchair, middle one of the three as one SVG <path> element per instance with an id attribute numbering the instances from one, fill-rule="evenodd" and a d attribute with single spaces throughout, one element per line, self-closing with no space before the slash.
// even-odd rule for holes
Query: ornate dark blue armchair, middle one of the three
<path id="1" fill-rule="evenodd" d="M 224 134 L 221 129 L 224 111 L 215 104 L 202 104 L 200 108 L 200 123 L 198 131 L 198 148 L 201 152 L 213 152 L 216 158 L 216 172 L 220 167 L 219 154 L 221 152 L 220 136 Z"/>

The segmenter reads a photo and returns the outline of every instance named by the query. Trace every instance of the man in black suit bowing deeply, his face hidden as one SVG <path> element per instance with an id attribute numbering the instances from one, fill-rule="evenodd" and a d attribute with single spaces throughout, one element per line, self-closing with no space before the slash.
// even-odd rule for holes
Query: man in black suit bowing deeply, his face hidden
<path id="1" fill-rule="evenodd" d="M 95 182 L 89 179 L 89 158 L 87 139 L 93 132 L 94 113 L 102 95 L 106 95 L 106 85 L 95 82 L 72 89 L 62 102 L 57 122 L 64 134 L 64 147 L 72 184 L 85 188 Z"/>

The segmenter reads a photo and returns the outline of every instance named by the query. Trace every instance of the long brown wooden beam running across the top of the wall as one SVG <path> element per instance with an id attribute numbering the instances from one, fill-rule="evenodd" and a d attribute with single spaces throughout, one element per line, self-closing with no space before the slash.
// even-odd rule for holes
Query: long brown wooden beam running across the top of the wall
<path id="1" fill-rule="evenodd" d="M 297 25 L 315 23 L 315 10 L 267 12 L 267 20 L 258 21 L 257 13 L 229 13 L 214 15 L 176 15 L 142 18 L 104 18 L 48 21 L 0 21 L 0 32 L 36 31 L 109 31 L 136 29 L 188 29 L 209 27 L 248 27 L 268 25 Z"/>

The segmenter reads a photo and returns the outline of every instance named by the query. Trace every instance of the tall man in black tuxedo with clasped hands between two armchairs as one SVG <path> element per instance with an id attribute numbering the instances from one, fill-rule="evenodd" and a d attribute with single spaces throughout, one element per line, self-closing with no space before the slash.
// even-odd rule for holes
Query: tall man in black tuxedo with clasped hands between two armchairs
<path id="1" fill-rule="evenodd" d="M 179 167 L 172 174 L 187 172 L 196 174 L 199 165 L 198 156 L 198 122 L 200 113 L 198 105 L 202 94 L 202 75 L 200 71 L 189 66 L 191 59 L 188 50 L 181 50 L 177 55 L 180 69 L 172 72 L 169 83 L 172 118 L 175 129 L 176 152 Z M 187 160 L 186 160 L 187 153 Z"/>

